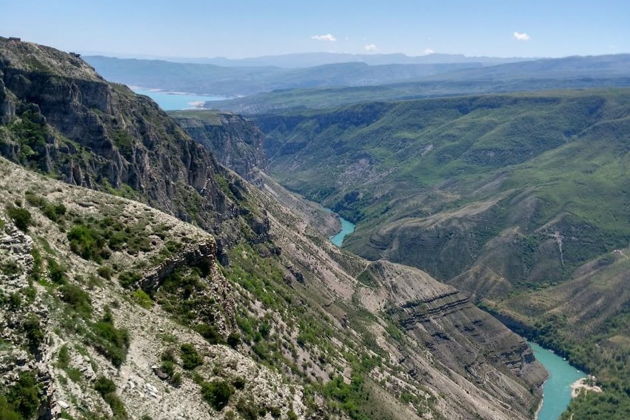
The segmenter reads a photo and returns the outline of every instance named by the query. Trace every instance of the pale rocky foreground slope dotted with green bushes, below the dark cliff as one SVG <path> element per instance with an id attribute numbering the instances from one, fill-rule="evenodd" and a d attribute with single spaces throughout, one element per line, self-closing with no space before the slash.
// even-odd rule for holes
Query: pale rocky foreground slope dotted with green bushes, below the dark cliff
<path id="1" fill-rule="evenodd" d="M 265 368 L 244 341 L 224 344 L 248 297 L 219 271 L 211 235 L 2 158 L 0 174 L 3 416 L 304 418 L 299 382 Z M 100 229 L 118 233 L 88 239 Z"/>

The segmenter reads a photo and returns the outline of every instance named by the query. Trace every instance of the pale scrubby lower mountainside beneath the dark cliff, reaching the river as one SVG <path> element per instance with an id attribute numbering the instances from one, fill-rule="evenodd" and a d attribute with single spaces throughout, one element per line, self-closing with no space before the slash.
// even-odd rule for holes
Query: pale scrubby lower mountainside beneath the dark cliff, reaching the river
<path id="1" fill-rule="evenodd" d="M 33 413 L 75 418 L 501 419 L 535 408 L 543 373 L 522 339 L 422 272 L 320 238 L 324 251 L 267 198 L 282 259 L 243 244 L 220 266 L 197 228 L 0 165 L 2 394 L 25 418 L 12 390 L 27 376 Z"/>

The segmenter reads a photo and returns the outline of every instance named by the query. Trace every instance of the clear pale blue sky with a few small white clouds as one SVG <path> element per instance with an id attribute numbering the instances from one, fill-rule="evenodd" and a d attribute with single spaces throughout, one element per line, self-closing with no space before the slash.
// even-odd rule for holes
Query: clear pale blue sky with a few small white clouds
<path id="1" fill-rule="evenodd" d="M 0 0 L 0 35 L 79 52 L 630 52 L 628 0 Z"/>

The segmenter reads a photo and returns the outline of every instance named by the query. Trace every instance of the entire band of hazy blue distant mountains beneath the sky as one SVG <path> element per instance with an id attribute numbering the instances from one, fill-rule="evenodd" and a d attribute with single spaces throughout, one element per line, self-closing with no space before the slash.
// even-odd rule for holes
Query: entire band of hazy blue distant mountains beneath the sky
<path id="1" fill-rule="evenodd" d="M 627 86 L 630 75 L 630 54 L 520 62 L 506 61 L 523 59 L 447 54 L 408 57 L 403 54 L 317 53 L 241 60 L 204 59 L 212 61 L 212 64 L 104 56 L 84 58 L 104 77 L 119 83 L 166 91 L 240 97 L 209 106 L 218 105 L 223 109 L 250 113 L 278 107 L 336 106 L 374 100 L 375 97 L 398 100 L 556 87 Z M 342 59 L 353 61 L 300 67 Z M 322 89 L 345 90 L 328 91 L 323 94 L 324 99 L 316 99 L 322 96 Z M 299 100 L 296 101 L 296 98 Z"/>

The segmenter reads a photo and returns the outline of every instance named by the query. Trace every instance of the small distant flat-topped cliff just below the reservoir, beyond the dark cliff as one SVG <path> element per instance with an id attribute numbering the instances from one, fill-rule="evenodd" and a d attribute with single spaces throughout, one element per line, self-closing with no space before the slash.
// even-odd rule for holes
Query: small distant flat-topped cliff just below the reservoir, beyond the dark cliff
<path id="1" fill-rule="evenodd" d="M 252 122 L 219 111 L 176 111 L 169 115 L 219 163 L 250 182 L 260 182 L 258 170 L 267 166 L 264 135 Z"/>

